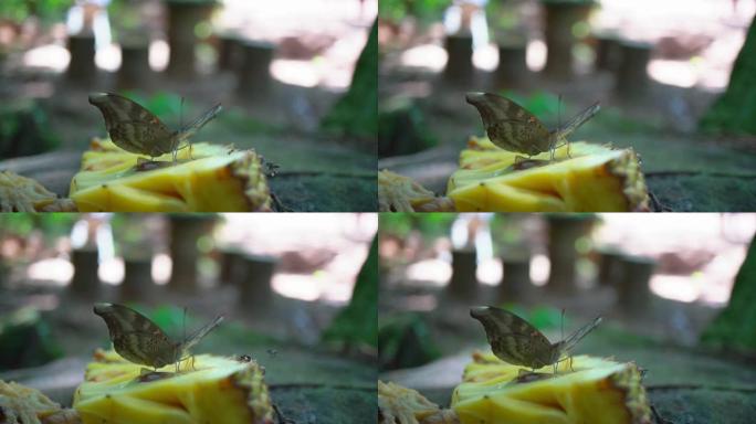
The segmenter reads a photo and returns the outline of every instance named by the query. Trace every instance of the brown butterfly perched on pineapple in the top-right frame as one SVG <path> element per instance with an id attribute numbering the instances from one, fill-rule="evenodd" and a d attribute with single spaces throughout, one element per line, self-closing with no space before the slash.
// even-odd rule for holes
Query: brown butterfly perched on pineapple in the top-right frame
<path id="1" fill-rule="evenodd" d="M 533 114 L 506 97 L 492 93 L 468 93 L 465 98 L 481 114 L 485 132 L 494 145 L 528 156 L 550 150 L 552 159 L 557 142 L 566 141 L 569 134 L 600 109 L 597 102 L 567 124 L 548 130 Z"/>

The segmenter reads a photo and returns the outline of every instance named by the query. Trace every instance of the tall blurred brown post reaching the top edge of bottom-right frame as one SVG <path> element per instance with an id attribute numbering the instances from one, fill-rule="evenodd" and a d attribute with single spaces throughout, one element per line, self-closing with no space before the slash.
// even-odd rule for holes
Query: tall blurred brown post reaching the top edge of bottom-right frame
<path id="1" fill-rule="evenodd" d="M 552 263 L 546 289 L 558 294 L 575 292 L 575 264 L 578 259 L 575 242 L 586 235 L 594 218 L 554 215 L 548 218 L 548 258 Z"/>

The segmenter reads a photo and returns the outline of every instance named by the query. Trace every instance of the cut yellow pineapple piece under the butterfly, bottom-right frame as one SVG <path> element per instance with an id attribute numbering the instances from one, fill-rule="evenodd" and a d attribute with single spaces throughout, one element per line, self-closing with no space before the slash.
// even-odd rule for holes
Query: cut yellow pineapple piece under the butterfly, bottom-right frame
<path id="1" fill-rule="evenodd" d="M 462 424 L 650 423 L 638 367 L 588 356 L 531 370 L 474 354 L 452 395 Z M 525 372 L 525 374 L 523 374 Z"/>

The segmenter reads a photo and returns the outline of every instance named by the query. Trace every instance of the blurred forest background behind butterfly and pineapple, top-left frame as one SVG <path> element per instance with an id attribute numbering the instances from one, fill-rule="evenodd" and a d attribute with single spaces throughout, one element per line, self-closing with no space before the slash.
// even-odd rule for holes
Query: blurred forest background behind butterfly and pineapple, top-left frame
<path id="1" fill-rule="evenodd" d="M 66 194 L 61 181 L 106 136 L 90 92 L 125 95 L 174 129 L 222 103 L 193 141 L 256 149 L 281 167 L 271 186 L 291 209 L 375 211 L 377 3 L 3 1 L 0 159 L 25 159 L 0 169 Z M 40 165 L 50 157 L 55 170 Z M 325 193 L 339 189 L 357 194 L 334 204 Z"/>

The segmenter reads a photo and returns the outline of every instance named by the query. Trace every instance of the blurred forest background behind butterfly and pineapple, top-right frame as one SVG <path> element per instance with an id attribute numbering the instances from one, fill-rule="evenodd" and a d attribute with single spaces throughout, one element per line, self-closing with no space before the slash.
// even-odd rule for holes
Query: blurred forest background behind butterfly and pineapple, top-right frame
<path id="1" fill-rule="evenodd" d="M 600 102 L 571 139 L 636 149 L 668 209 L 753 211 L 755 11 L 752 0 L 384 0 L 379 166 L 443 192 L 483 135 L 465 92 L 510 97 L 549 128 Z"/>

